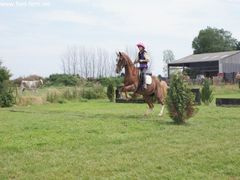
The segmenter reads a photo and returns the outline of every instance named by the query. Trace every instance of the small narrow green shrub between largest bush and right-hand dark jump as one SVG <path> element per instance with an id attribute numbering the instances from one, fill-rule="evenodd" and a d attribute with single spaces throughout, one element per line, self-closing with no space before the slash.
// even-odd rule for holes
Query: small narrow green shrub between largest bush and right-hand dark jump
<path id="1" fill-rule="evenodd" d="M 210 88 L 210 82 L 208 79 L 204 79 L 203 87 L 201 90 L 202 102 L 206 105 L 210 104 L 213 100 L 212 89 Z"/>

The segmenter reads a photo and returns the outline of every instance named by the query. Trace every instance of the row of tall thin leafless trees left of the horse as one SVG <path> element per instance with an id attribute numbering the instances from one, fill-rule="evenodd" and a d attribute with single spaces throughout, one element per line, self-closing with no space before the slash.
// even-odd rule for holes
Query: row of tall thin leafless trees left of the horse
<path id="1" fill-rule="evenodd" d="M 98 48 L 69 47 L 61 57 L 64 74 L 85 78 L 114 75 L 115 60 L 106 50 Z"/>

